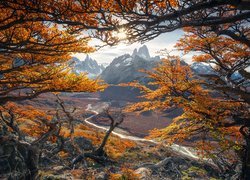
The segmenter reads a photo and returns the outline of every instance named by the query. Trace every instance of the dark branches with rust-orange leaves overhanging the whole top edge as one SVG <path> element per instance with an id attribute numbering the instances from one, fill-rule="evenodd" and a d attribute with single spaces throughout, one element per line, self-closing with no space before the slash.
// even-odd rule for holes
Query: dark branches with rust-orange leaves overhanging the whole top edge
<path id="1" fill-rule="evenodd" d="M 9 15 L 2 18 L 0 31 L 23 22 L 53 22 L 66 25 L 71 33 L 93 30 L 94 37 L 114 45 L 119 38 L 112 31 L 122 28 L 127 40 L 135 42 L 147 41 L 183 27 L 207 26 L 213 31 L 223 24 L 248 21 L 249 4 L 248 0 L 6 0 L 0 5 Z M 249 38 L 231 29 L 218 33 L 249 45 Z"/>

